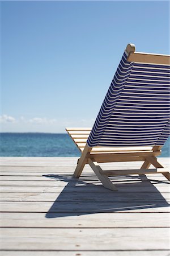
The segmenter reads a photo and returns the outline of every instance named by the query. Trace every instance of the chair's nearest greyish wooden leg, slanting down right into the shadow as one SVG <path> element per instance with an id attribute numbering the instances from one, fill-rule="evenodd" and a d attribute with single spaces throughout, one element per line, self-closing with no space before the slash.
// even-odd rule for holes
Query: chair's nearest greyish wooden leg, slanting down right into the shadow
<path id="1" fill-rule="evenodd" d="M 115 185 L 111 180 L 109 180 L 108 176 L 103 173 L 103 170 L 97 162 L 93 162 L 91 159 L 88 159 L 88 164 L 90 164 L 92 170 L 95 172 L 96 176 L 99 178 L 105 188 L 117 191 Z"/>

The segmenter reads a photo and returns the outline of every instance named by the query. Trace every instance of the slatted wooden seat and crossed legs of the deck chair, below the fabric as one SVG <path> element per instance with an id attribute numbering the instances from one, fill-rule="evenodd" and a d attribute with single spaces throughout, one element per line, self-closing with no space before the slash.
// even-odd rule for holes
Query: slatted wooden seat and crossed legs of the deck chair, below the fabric
<path id="1" fill-rule="evenodd" d="M 74 177 L 79 178 L 82 174 L 85 164 L 89 164 L 96 176 L 99 178 L 105 188 L 117 191 L 116 186 L 112 183 L 108 176 L 130 175 L 130 174 L 163 174 L 168 180 L 170 174 L 168 168 L 165 168 L 158 162 L 156 156 L 161 154 L 161 146 L 154 147 L 89 147 L 86 143 L 90 128 L 67 128 L 71 139 L 82 152 L 78 159 L 77 166 L 74 171 Z M 145 149 L 144 149 L 145 148 Z M 108 162 L 131 162 L 144 161 L 139 170 L 109 170 L 104 171 L 99 163 Z M 155 168 L 148 169 L 150 165 Z"/>

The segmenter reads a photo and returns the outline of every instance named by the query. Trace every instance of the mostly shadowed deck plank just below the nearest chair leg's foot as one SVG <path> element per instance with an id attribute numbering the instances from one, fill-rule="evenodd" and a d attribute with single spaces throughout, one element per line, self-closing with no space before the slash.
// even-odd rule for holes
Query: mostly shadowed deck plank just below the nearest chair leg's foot
<path id="1" fill-rule="evenodd" d="M 113 203 L 113 202 L 145 202 L 150 203 L 151 201 L 168 201 L 169 194 L 162 193 L 162 196 L 157 195 L 157 193 L 119 193 L 117 192 L 116 195 L 113 196 L 112 193 L 105 194 L 97 193 L 97 196 L 94 193 L 65 193 L 62 196 L 60 193 L 1 193 L 0 201 L 29 201 L 29 202 L 100 202 L 100 203 Z M 139 197 L 140 196 L 140 197 Z"/>

